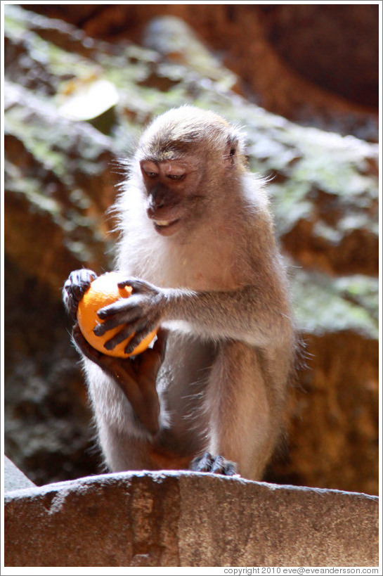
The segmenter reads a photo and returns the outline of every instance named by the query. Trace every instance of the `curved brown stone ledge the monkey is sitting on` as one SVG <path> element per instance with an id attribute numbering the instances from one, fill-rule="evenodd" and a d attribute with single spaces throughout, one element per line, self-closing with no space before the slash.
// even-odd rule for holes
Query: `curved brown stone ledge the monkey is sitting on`
<path id="1" fill-rule="evenodd" d="M 378 499 L 197 473 L 9 492 L 5 565 L 375 566 Z"/>

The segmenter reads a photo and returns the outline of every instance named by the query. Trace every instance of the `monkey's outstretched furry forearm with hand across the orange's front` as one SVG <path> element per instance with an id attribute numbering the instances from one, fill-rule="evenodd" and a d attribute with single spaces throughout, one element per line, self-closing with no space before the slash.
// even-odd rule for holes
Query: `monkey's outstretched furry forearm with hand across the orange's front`
<path id="1" fill-rule="evenodd" d="M 105 343 L 110 350 L 135 332 L 126 347 L 126 352 L 131 352 L 164 321 L 184 321 L 204 337 L 230 338 L 249 345 L 267 345 L 271 340 L 277 343 L 279 338 L 290 336 L 287 295 L 275 282 L 212 292 L 157 288 L 137 279 L 119 283 L 121 287 L 127 285 L 134 290 L 129 299 L 98 311 L 104 322 L 95 328 L 97 335 L 124 325 Z"/>

